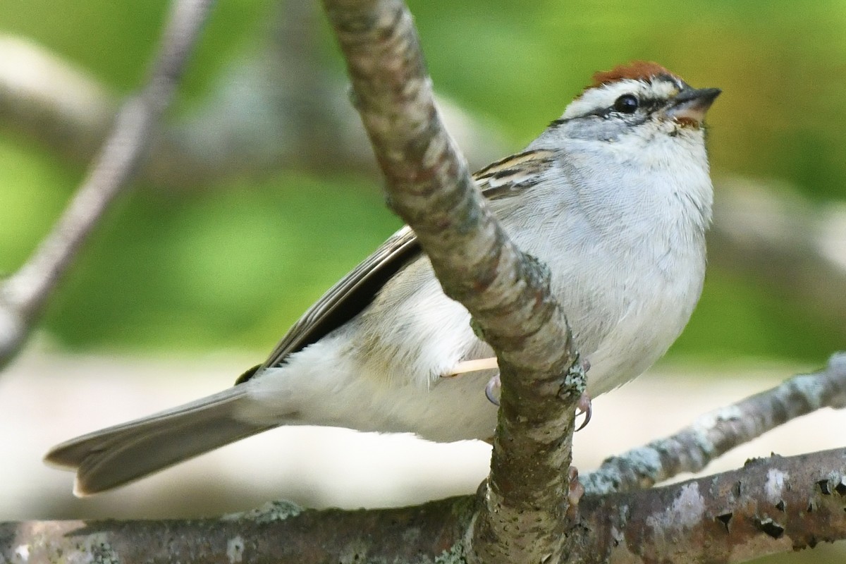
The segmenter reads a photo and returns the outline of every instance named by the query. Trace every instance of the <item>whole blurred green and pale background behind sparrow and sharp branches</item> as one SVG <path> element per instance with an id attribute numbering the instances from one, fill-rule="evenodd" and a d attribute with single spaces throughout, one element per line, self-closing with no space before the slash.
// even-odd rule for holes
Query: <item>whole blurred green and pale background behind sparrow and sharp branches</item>
<path id="1" fill-rule="evenodd" d="M 76 432 L 229 385 L 399 226 L 383 205 L 369 146 L 349 109 L 342 59 L 314 4 L 217 4 L 140 180 L 96 229 L 28 348 L 0 375 L 0 432 L 15 437 L 4 447 L 11 449 L 4 465 L 26 459 L 3 481 L 10 490 L 0 491 L 0 519 L 175 514 L 150 501 L 152 486 L 131 502 L 126 493 L 111 505 L 74 501 L 69 475 L 41 470 L 38 457 Z M 519 150 L 593 72 L 618 63 L 656 60 L 691 85 L 723 90 L 708 119 L 717 211 L 705 291 L 656 375 L 615 392 L 620 399 L 604 418 L 596 413 L 608 433 L 619 426 L 610 413 L 631 408 L 629 417 L 639 419 L 642 402 L 667 413 L 676 406 L 681 426 L 700 408 L 821 366 L 843 348 L 846 4 L 409 5 L 451 130 L 474 167 Z M 14 272 L 47 233 L 119 102 L 143 85 L 167 8 L 164 0 L 0 3 L 0 273 Z M 596 463 L 626 447 L 608 443 L 599 425 L 591 423 L 595 441 L 580 438 L 597 446 L 588 457 Z M 663 425 L 645 420 L 630 446 L 667 432 Z M 808 450 L 811 425 L 757 454 Z M 329 441 L 325 457 L 296 451 L 316 439 L 292 430 L 257 439 L 264 442 L 251 452 L 289 441 L 294 450 L 279 457 L 301 474 L 315 471 L 304 461 L 347 469 L 353 463 L 344 452 L 365 452 L 370 463 L 360 472 L 389 482 L 391 462 L 374 463 L 375 452 L 395 462 L 392 441 L 400 438 L 357 435 L 364 446 L 350 449 L 350 434 L 313 432 Z M 830 446 L 838 446 L 834 439 Z M 272 491 L 320 507 L 386 505 L 431 491 L 470 492 L 485 474 L 484 445 L 402 440 L 418 449 L 409 466 L 423 478 L 393 468 L 406 481 L 368 499 L 343 498 L 342 491 L 363 486 L 339 485 L 337 476 L 288 491 L 280 485 L 293 480 L 286 474 Z M 244 491 L 255 490 L 244 479 L 249 456 L 228 458 L 242 465 L 232 474 Z M 438 476 L 438 457 L 454 468 Z M 197 465 L 187 479 L 226 464 Z M 420 485 L 438 479 L 449 482 L 446 489 Z M 167 487 L 188 495 L 179 486 L 158 489 Z M 195 490 L 193 502 L 208 501 L 206 486 Z M 176 511 L 234 511 L 266 491 L 217 490 L 222 505 L 187 509 L 179 497 Z"/>

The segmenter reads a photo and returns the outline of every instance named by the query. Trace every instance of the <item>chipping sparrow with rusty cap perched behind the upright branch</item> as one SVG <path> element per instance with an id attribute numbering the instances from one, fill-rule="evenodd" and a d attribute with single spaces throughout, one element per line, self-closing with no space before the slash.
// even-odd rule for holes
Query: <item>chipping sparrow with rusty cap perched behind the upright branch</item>
<path id="1" fill-rule="evenodd" d="M 713 197 L 702 120 L 720 93 L 656 63 L 594 79 L 525 151 L 475 174 L 508 235 L 549 266 L 591 397 L 662 356 L 699 299 Z M 495 374 L 405 227 L 239 385 L 65 442 L 47 462 L 75 468 L 85 495 L 282 424 L 485 439 Z"/>

